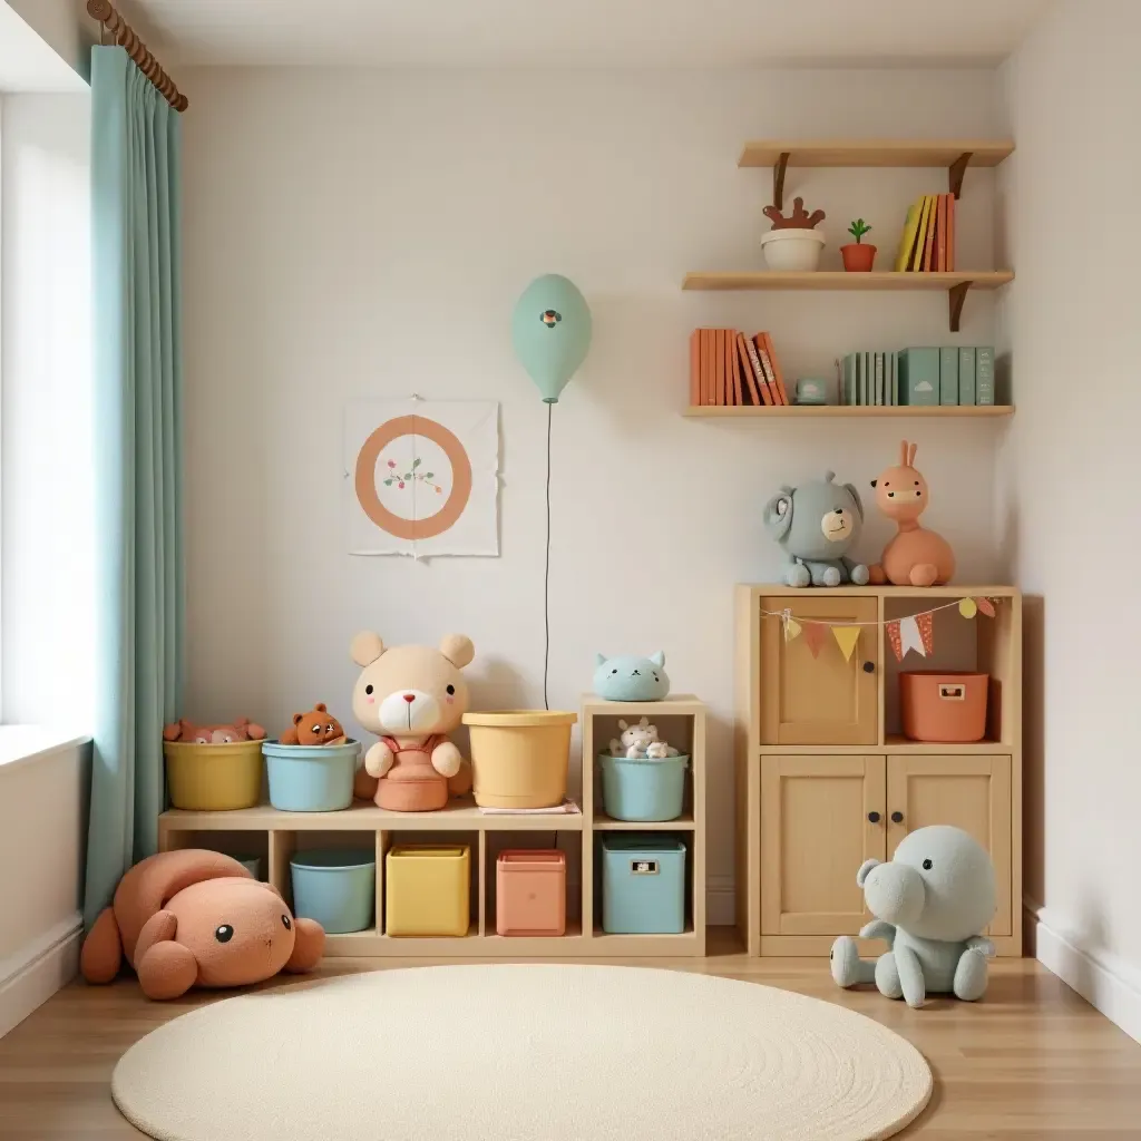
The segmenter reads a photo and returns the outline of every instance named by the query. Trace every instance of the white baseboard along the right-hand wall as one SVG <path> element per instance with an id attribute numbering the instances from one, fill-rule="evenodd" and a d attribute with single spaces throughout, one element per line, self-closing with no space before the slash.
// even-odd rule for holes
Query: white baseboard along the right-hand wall
<path id="1" fill-rule="evenodd" d="M 1047 907 L 1030 899 L 1023 906 L 1035 924 L 1038 962 L 1141 1042 L 1141 972 L 1109 952 L 1083 947 L 1081 936 Z"/>

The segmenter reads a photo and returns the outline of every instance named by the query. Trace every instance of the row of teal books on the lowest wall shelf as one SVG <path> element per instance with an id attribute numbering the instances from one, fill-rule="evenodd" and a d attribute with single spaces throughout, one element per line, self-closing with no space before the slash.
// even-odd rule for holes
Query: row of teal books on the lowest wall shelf
<path id="1" fill-rule="evenodd" d="M 945 345 L 849 353 L 836 362 L 841 404 L 994 404 L 995 350 Z"/>

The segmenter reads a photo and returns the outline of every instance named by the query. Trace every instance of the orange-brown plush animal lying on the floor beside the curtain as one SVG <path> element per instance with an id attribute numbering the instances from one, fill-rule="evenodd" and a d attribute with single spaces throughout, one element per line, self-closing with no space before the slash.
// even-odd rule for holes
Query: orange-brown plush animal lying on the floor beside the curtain
<path id="1" fill-rule="evenodd" d="M 119 881 L 83 942 L 80 970 L 88 982 L 111 982 L 126 954 L 143 994 L 178 998 L 194 986 L 313 970 L 324 949 L 321 924 L 293 919 L 236 859 L 184 849 L 149 856 Z"/>

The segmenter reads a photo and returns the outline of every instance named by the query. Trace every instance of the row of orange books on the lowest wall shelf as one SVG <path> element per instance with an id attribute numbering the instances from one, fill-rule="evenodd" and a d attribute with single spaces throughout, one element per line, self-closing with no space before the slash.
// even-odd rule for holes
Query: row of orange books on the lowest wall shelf
<path id="1" fill-rule="evenodd" d="M 695 329 L 689 337 L 689 403 L 788 404 L 772 338 L 736 329 Z"/>

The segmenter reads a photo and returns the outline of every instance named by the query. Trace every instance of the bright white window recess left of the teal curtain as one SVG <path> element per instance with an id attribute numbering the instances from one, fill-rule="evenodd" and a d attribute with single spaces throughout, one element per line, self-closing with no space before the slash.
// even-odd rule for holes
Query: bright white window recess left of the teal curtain
<path id="1" fill-rule="evenodd" d="M 91 713 L 90 97 L 0 104 L 0 721 Z"/>

